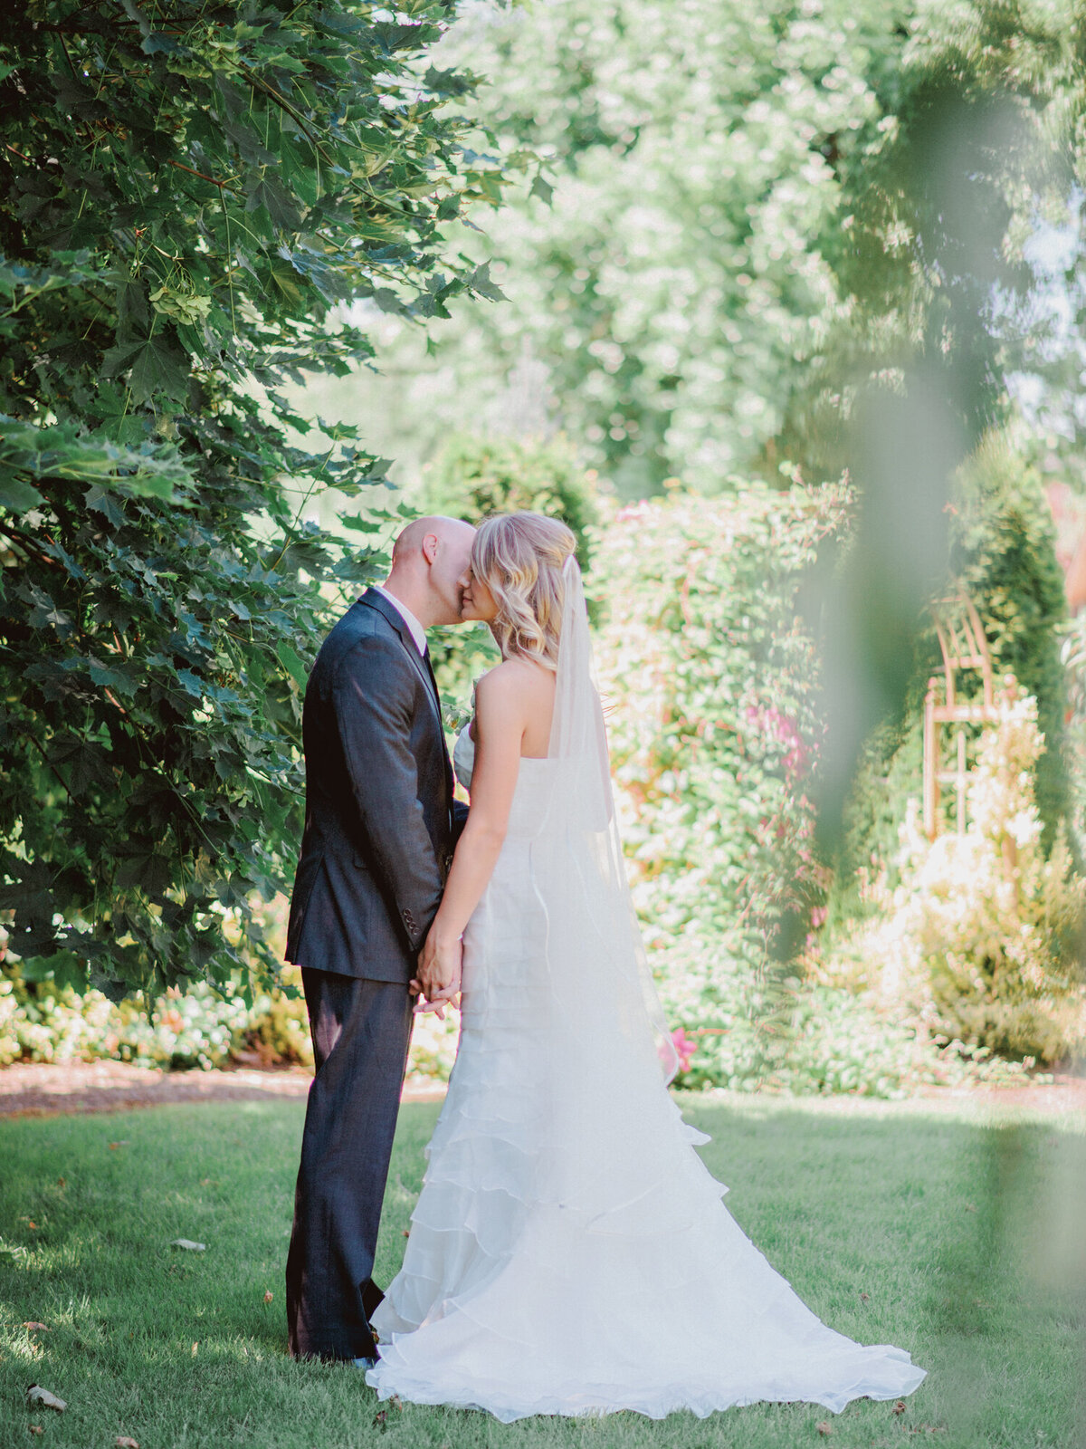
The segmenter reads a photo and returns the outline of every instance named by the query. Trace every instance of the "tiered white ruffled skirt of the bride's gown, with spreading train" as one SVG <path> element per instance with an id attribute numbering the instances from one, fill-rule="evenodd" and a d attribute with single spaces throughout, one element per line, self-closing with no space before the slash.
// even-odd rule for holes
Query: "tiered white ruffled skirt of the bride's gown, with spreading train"
<path id="1" fill-rule="evenodd" d="M 828 1329 L 746 1237 L 652 1043 L 584 1032 L 604 1004 L 547 978 L 530 846 L 500 867 L 465 939 L 459 1055 L 368 1382 L 507 1423 L 912 1392 L 906 1352 Z"/>

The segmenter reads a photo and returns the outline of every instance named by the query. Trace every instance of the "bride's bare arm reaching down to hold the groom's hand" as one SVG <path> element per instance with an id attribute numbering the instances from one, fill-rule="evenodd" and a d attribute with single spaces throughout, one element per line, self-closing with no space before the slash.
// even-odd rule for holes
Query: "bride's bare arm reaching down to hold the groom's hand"
<path id="1" fill-rule="evenodd" d="M 459 991 L 460 936 L 505 840 L 527 724 L 524 691 L 518 682 L 515 672 L 501 665 L 479 680 L 472 807 L 418 961 L 418 982 L 430 1001 Z"/>

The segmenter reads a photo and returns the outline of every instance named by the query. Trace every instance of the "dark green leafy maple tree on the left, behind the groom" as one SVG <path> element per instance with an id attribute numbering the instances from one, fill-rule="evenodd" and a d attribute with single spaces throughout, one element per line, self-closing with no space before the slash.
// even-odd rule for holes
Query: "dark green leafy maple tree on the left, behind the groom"
<path id="1" fill-rule="evenodd" d="M 0 39 L 0 909 L 28 971 L 129 987 L 274 955 L 300 687 L 372 577 L 385 461 L 281 388 L 372 354 L 342 303 L 495 297 L 446 0 L 33 3 Z M 301 442 L 298 440 L 301 439 Z M 334 485 L 361 530 L 304 522 Z"/>

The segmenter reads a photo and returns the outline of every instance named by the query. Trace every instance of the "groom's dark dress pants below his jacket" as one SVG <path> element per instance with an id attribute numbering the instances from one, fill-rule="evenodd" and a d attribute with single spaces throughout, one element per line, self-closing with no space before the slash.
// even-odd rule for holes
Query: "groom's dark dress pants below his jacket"
<path id="1" fill-rule="evenodd" d="M 287 1329 L 295 1358 L 372 1358 L 368 1311 L 381 1203 L 407 1069 L 413 998 L 394 981 L 303 966 L 316 1077 L 306 1107 Z"/>

